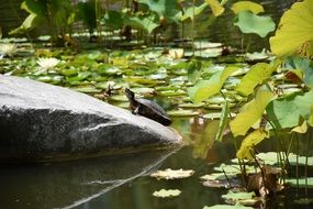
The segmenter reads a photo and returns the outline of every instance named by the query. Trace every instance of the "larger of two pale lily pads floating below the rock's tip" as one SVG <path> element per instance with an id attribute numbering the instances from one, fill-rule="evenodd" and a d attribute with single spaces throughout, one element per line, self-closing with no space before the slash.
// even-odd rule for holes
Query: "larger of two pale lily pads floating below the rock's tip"
<path id="1" fill-rule="evenodd" d="M 177 179 L 177 178 L 188 178 L 193 175 L 192 169 L 170 169 L 167 168 L 165 170 L 156 170 L 150 174 L 150 177 L 155 177 L 158 179 Z"/>

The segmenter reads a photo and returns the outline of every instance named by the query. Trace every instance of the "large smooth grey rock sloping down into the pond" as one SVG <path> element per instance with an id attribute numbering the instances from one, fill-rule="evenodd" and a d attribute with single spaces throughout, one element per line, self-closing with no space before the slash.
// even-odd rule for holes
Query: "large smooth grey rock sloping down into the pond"
<path id="1" fill-rule="evenodd" d="M 180 143 L 153 120 L 83 94 L 0 76 L 0 161 L 59 161 Z"/>

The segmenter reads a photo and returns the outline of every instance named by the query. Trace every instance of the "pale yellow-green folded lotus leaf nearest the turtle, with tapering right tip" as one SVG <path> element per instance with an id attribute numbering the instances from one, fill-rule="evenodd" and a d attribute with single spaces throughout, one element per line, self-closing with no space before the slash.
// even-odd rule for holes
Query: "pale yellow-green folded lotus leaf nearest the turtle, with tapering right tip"
<path id="1" fill-rule="evenodd" d="M 238 67 L 231 66 L 224 70 L 216 72 L 209 80 L 198 81 L 193 87 L 188 89 L 189 97 L 198 103 L 219 94 L 225 80 L 237 69 Z"/>

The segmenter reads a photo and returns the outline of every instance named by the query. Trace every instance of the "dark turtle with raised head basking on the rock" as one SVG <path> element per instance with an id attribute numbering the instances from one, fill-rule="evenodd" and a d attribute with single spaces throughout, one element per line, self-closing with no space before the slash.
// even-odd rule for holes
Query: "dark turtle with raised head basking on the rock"
<path id="1" fill-rule="evenodd" d="M 146 117 L 163 125 L 170 125 L 171 119 L 156 102 L 148 99 L 136 99 L 135 94 L 128 88 L 125 88 L 125 95 L 130 101 L 130 108 L 133 114 Z"/>

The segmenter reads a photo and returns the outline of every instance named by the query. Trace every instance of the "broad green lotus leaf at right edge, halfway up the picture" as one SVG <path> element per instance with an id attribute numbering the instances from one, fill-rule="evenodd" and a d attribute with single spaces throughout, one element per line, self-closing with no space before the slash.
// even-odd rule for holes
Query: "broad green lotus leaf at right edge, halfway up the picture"
<path id="1" fill-rule="evenodd" d="M 267 107 L 268 119 L 276 129 L 298 127 L 300 118 L 309 120 L 313 106 L 313 90 L 273 100 Z"/>

